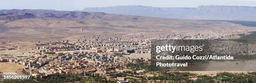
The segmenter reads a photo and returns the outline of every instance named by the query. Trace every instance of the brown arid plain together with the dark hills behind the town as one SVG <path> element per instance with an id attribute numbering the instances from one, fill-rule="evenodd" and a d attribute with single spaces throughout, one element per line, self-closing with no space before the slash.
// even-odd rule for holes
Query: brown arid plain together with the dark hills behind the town
<path id="1" fill-rule="evenodd" d="M 253 29 L 229 22 L 113 15 L 101 12 L 1 10 L 0 13 L 8 12 L 14 13 L 0 15 L 0 46 L 18 46 L 20 49 L 0 51 L 0 54 L 28 52 L 38 41 L 76 41 L 79 38 L 88 39 L 96 34 L 143 34 L 145 39 L 156 34 L 169 33 L 207 34 L 218 37 Z"/>

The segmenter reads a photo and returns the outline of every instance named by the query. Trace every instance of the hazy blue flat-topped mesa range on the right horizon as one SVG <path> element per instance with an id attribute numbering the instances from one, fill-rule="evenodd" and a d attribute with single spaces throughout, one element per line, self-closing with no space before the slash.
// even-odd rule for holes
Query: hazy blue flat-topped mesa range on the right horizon
<path id="1" fill-rule="evenodd" d="M 195 8 L 188 8 L 131 5 L 113 7 L 87 7 L 82 11 L 163 18 L 256 21 L 256 7 L 248 6 L 203 5 Z"/>

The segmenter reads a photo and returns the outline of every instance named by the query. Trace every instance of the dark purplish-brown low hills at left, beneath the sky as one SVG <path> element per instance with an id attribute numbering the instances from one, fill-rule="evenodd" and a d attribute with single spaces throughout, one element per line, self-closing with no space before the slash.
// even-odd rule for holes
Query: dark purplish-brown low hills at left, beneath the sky
<path id="1" fill-rule="evenodd" d="M 15 21 L 27 18 L 57 18 L 69 20 L 137 20 L 138 16 L 114 15 L 103 12 L 74 12 L 55 10 L 0 10 L 0 20 Z"/>

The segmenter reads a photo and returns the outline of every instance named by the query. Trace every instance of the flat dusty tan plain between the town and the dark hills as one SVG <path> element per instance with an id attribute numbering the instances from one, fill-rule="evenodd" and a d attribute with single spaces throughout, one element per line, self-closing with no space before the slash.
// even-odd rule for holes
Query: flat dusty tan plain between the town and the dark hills
<path id="1" fill-rule="evenodd" d="M 123 16 L 128 17 L 128 16 Z M 131 16 L 129 16 L 131 17 Z M 90 39 L 93 35 L 102 36 L 143 34 L 144 39 L 162 33 L 200 33 L 216 35 L 236 33 L 250 29 L 240 24 L 210 22 L 202 20 L 179 20 L 153 17 L 137 17 L 133 20 L 70 20 L 59 18 L 30 18 L 5 23 L 0 20 L 0 46 L 19 46 L 18 50 L 0 51 L 0 54 L 21 54 L 31 51 L 38 41 Z M 82 22 L 82 23 L 81 23 Z M 84 31 L 80 32 L 83 28 Z M 2 43 L 5 42 L 5 43 Z M 10 43 L 9 43 L 10 42 Z M 33 52 L 33 51 L 31 51 Z"/>

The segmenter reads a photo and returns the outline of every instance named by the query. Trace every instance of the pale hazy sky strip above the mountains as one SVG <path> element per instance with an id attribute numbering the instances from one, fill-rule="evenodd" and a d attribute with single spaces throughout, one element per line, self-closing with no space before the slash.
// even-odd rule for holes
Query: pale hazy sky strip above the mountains
<path id="1" fill-rule="evenodd" d="M 256 6 L 256 0 L 3 0 L 3 9 L 82 10 L 85 7 L 143 5 L 152 7 L 197 7 L 198 5 Z"/>

